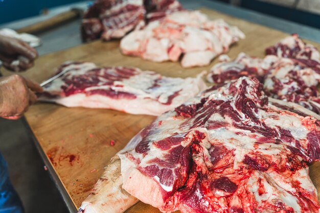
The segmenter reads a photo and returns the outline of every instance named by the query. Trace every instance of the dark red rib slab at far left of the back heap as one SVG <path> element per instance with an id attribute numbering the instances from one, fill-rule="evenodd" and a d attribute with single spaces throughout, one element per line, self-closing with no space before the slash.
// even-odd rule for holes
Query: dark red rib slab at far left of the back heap
<path id="1" fill-rule="evenodd" d="M 136 26 L 144 25 L 145 13 L 143 0 L 98 0 L 84 14 L 82 39 L 121 38 Z"/>

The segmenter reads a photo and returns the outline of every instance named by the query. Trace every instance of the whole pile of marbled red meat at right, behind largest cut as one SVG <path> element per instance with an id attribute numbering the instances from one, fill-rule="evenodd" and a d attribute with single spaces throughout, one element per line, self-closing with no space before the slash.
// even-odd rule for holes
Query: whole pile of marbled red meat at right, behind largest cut
<path id="1" fill-rule="evenodd" d="M 234 61 L 218 63 L 212 67 L 208 81 L 224 83 L 241 76 L 257 77 L 268 96 L 320 113 L 320 54 L 316 48 L 294 34 L 266 53 L 264 59 L 241 53 Z"/>

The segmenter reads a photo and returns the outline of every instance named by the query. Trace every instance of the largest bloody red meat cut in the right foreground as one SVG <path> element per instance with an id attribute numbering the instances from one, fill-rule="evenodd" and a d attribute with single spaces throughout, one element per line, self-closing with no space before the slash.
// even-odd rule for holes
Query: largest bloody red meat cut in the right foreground
<path id="1" fill-rule="evenodd" d="M 119 154 L 124 190 L 163 212 L 319 212 L 319 116 L 262 88 L 241 77 L 157 117 Z"/>

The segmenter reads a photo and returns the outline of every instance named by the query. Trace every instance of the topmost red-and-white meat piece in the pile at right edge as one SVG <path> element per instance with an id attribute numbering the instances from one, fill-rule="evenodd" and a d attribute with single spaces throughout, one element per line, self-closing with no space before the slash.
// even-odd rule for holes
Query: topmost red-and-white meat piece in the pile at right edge
<path id="1" fill-rule="evenodd" d="M 266 49 L 267 55 L 276 55 L 282 58 L 299 58 L 319 60 L 318 50 L 311 44 L 306 44 L 298 34 L 292 34 L 274 46 Z"/>

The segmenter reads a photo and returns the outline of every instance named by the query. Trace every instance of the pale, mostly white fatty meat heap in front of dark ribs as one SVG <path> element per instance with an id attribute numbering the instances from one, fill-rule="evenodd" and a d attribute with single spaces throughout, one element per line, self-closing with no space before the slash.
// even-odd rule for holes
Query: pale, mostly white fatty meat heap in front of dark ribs
<path id="1" fill-rule="evenodd" d="M 203 66 L 239 38 L 244 34 L 222 19 L 209 20 L 199 11 L 178 11 L 129 33 L 120 48 L 125 55 L 156 62 L 178 61 L 183 54 L 182 66 Z"/>

